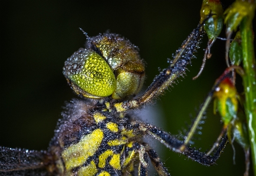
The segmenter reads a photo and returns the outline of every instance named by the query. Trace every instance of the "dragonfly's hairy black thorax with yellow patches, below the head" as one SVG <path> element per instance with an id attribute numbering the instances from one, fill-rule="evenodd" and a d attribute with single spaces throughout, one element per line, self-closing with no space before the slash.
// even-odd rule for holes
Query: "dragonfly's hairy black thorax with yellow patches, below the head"
<path id="1" fill-rule="evenodd" d="M 50 147 L 59 159 L 55 169 L 60 175 L 130 175 L 133 164 L 145 160 L 149 150 L 141 139 L 145 132 L 130 115 L 85 109 L 95 105 L 78 99 L 67 106 Z M 78 109 L 83 110 L 77 118 Z"/>

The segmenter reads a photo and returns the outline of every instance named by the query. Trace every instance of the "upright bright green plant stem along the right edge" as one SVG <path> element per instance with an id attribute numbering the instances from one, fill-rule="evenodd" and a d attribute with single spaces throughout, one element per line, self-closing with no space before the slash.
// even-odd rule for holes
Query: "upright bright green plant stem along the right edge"
<path id="1" fill-rule="evenodd" d="M 242 57 L 245 75 L 243 77 L 245 92 L 245 115 L 251 143 L 252 167 L 256 175 L 256 74 L 253 44 L 252 21 L 244 18 L 240 25 L 242 38 Z"/>

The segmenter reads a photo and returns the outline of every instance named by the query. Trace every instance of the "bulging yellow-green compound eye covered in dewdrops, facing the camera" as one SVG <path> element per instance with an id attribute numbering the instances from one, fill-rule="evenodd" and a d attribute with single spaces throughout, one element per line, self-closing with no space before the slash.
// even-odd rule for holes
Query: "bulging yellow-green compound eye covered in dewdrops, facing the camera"
<path id="1" fill-rule="evenodd" d="M 107 97 L 116 89 L 116 78 L 107 62 L 96 52 L 79 49 L 65 62 L 64 74 L 78 94 Z"/>

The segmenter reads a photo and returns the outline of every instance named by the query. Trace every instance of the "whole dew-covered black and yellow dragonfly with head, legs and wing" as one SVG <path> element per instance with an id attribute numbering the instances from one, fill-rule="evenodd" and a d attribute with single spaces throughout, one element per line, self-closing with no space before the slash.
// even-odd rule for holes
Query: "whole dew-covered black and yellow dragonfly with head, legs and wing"
<path id="1" fill-rule="evenodd" d="M 214 164 L 227 137 L 213 156 L 206 155 L 188 147 L 186 137 L 178 139 L 141 122 L 132 111 L 161 95 L 185 73 L 198 48 L 201 27 L 193 30 L 168 67 L 139 97 L 145 66 L 137 47 L 116 34 L 87 36 L 86 48 L 74 52 L 63 71 L 81 99 L 66 105 L 48 151 L 0 148 L 0 175 L 146 176 L 149 160 L 159 175 L 169 175 L 155 150 L 143 142 L 145 135 L 201 164 Z M 12 160 L 14 155 L 17 160 Z"/>

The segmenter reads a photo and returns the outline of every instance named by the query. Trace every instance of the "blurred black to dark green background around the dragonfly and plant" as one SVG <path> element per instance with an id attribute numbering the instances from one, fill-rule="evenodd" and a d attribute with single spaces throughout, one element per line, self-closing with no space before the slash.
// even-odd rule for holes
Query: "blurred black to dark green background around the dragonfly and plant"
<path id="1" fill-rule="evenodd" d="M 230 3 L 225 1 L 224 8 Z M 198 25 L 201 1 L 1 1 L 0 6 L 0 145 L 47 150 L 64 101 L 76 97 L 64 79 L 62 68 L 65 59 L 84 47 L 86 36 L 78 28 L 83 28 L 90 36 L 109 29 L 137 45 L 147 62 L 146 88 L 159 73 L 158 67 L 167 66 L 167 58 L 172 57 Z M 195 116 L 195 108 L 204 101 L 226 67 L 225 42 L 218 40 L 202 75 L 192 81 L 201 67 L 205 46 L 204 42 L 196 54 L 198 58 L 192 61 L 193 67 L 188 67 L 187 76 L 156 101 L 163 117 L 155 118 L 161 119 L 161 128 L 172 134 L 186 128 L 189 114 Z M 149 105 L 149 108 L 154 106 Z M 212 108 L 211 105 L 202 135 L 198 136 L 201 140 L 195 142 L 202 151 L 210 148 L 222 127 L 219 116 L 211 116 Z M 171 175 L 242 175 L 244 152 L 239 145 L 234 145 L 237 164 L 233 165 L 233 151 L 228 144 L 212 167 L 188 160 L 163 145 L 157 148 L 164 151 L 160 157 Z"/>

